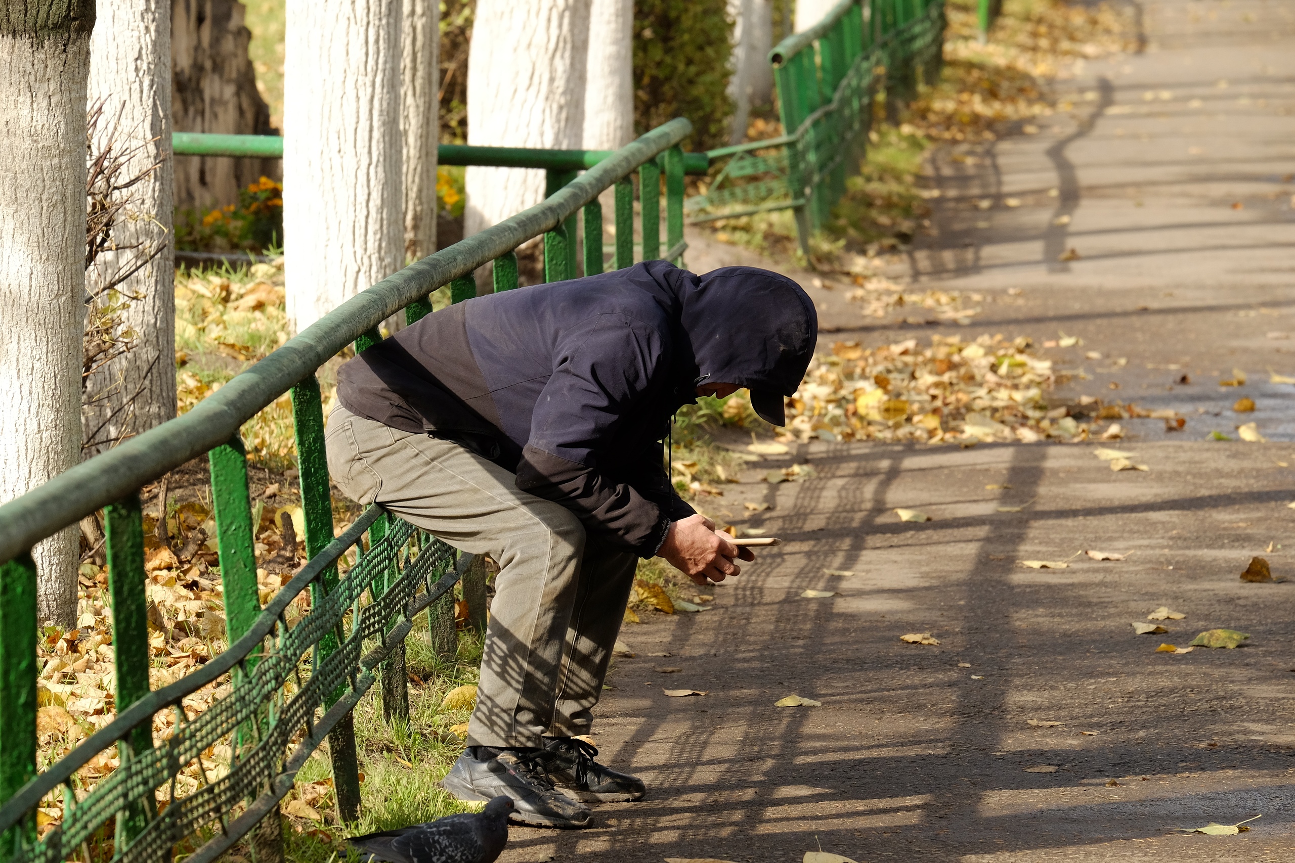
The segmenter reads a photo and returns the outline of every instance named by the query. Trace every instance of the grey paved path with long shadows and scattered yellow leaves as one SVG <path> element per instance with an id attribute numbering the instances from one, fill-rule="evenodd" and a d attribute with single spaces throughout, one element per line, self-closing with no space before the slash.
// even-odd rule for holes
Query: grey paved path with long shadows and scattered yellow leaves
<path id="1" fill-rule="evenodd" d="M 637 657 L 600 706 L 601 759 L 649 798 L 600 806 L 588 831 L 514 828 L 501 859 L 793 863 L 820 844 L 860 863 L 1295 859 L 1295 388 L 1267 371 L 1295 375 L 1295 3 L 1141 5 L 1146 52 L 1089 62 L 1039 135 L 932 162 L 938 234 L 894 276 L 984 294 L 970 329 L 811 292 L 825 343 L 1080 335 L 1044 351 L 1074 370 L 1058 400 L 1171 406 L 1186 428 L 1125 423 L 1115 445 L 1146 472 L 1112 472 L 1093 444 L 816 442 L 752 466 L 706 507 L 786 545 L 711 611 L 627 626 Z M 1220 388 L 1234 367 L 1248 384 Z M 1239 395 L 1259 410 L 1233 414 Z M 1273 442 L 1203 440 L 1250 419 Z M 817 479 L 760 481 L 804 462 Z M 1292 581 L 1239 581 L 1254 555 Z M 1186 618 L 1136 635 L 1160 606 Z M 1251 638 L 1156 652 L 1212 628 Z M 774 706 L 791 694 L 822 706 Z M 1237 836 L 1171 833 L 1260 814 Z"/>

